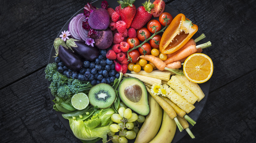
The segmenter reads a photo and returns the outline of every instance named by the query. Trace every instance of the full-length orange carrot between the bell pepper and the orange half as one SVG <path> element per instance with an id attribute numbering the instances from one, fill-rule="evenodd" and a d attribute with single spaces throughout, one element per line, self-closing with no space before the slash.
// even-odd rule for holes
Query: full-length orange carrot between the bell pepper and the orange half
<path id="1" fill-rule="evenodd" d="M 183 59 L 187 56 L 190 56 L 190 55 L 196 53 L 197 49 L 199 49 L 199 48 L 203 49 L 203 48 L 207 48 L 209 46 L 211 46 L 210 41 L 208 41 L 204 44 L 201 44 L 201 45 L 197 45 L 197 46 L 196 45 L 190 45 L 187 48 L 183 49 L 181 52 L 177 53 L 176 55 L 167 58 L 164 61 L 164 63 L 169 64 L 169 63 L 172 63 L 172 62 L 175 62 L 175 61 L 179 61 L 179 60 L 181 60 L 181 59 Z"/>

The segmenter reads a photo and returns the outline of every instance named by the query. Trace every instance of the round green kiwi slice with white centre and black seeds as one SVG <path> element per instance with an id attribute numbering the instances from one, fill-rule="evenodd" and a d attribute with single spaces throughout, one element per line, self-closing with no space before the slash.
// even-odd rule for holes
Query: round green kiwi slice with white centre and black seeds
<path id="1" fill-rule="evenodd" d="M 98 106 L 98 108 L 107 108 L 115 101 L 116 92 L 110 85 L 100 83 L 91 88 L 88 97 L 93 106 Z"/>

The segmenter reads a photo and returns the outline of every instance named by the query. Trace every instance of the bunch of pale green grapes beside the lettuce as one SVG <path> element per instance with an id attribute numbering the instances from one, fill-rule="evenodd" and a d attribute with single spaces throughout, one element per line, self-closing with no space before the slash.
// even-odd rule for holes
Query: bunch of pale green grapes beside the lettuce
<path id="1" fill-rule="evenodd" d="M 130 108 L 127 108 L 123 103 L 120 103 L 118 114 L 113 114 L 111 120 L 115 123 L 110 125 L 110 132 L 113 143 L 127 143 L 127 139 L 134 139 L 139 133 L 138 123 L 145 121 L 145 117 L 133 113 Z M 119 132 L 119 135 L 115 135 Z"/>

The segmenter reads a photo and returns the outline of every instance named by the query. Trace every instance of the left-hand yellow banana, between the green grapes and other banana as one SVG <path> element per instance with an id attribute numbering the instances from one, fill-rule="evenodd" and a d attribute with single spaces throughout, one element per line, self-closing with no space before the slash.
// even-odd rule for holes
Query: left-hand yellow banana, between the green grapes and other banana
<path id="1" fill-rule="evenodd" d="M 148 96 L 148 103 L 150 112 L 146 116 L 134 143 L 148 143 L 157 135 L 160 128 L 163 109 L 152 96 Z"/>

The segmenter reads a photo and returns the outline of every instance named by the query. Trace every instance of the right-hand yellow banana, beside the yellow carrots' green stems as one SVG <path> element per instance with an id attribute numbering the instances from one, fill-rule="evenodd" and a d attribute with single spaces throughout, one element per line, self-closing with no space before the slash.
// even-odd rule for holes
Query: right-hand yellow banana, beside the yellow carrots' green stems
<path id="1" fill-rule="evenodd" d="M 165 112 L 158 134 L 149 143 L 170 143 L 176 132 L 176 123 Z"/>

